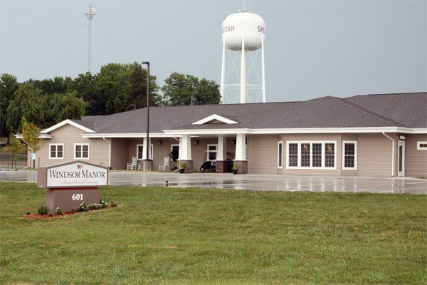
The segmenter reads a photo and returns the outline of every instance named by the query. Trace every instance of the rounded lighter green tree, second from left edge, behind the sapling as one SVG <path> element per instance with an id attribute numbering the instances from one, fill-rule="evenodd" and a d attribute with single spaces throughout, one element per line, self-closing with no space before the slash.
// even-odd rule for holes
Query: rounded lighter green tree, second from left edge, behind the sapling
<path id="1" fill-rule="evenodd" d="M 7 108 L 6 128 L 11 133 L 17 133 L 21 128 L 22 117 L 41 125 L 44 113 L 41 90 L 34 88 L 33 83 L 23 83 L 14 93 L 14 99 Z"/>

